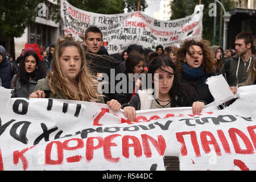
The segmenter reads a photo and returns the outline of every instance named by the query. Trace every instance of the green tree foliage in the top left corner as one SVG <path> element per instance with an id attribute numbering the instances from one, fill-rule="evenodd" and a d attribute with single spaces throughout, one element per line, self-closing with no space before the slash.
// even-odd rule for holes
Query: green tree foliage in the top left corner
<path id="1" fill-rule="evenodd" d="M 0 29 L 7 37 L 20 37 L 35 22 L 40 0 L 0 1 Z M 2 18 L 1 18 L 2 17 Z"/>

